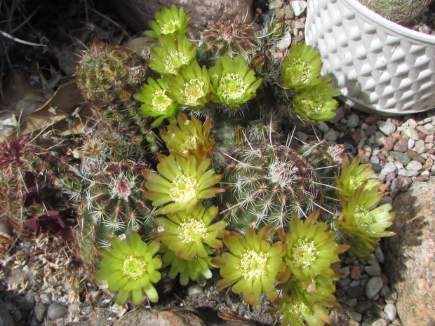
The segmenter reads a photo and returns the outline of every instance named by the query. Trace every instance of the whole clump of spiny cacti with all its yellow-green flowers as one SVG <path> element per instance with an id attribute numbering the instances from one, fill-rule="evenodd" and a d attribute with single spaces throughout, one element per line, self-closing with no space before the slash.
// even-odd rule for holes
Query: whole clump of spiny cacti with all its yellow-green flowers
<path id="1" fill-rule="evenodd" d="M 166 278 L 203 286 L 218 267 L 217 289 L 253 306 L 265 294 L 283 325 L 331 323 L 338 254 L 366 257 L 392 235 L 380 181 L 342 147 L 294 137 L 334 116 L 338 92 L 317 51 L 286 43 L 286 21 L 218 22 L 196 44 L 190 20 L 156 13 L 149 57 L 83 52 L 77 82 L 98 122 L 58 157 L 44 137 L 1 145 L 1 219 L 52 214 L 53 185 L 76 212 L 76 257 L 118 304 L 156 302 Z"/>

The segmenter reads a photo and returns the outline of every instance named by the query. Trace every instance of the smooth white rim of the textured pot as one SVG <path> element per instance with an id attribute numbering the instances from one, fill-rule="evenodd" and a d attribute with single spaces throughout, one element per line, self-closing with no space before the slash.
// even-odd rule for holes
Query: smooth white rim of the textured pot
<path id="1" fill-rule="evenodd" d="M 348 6 L 352 7 L 356 12 L 356 14 L 365 16 L 366 18 L 368 18 L 368 20 L 371 20 L 375 24 L 381 25 L 382 27 L 389 29 L 389 31 L 395 34 L 400 34 L 410 39 L 414 39 L 416 41 L 421 41 L 421 42 L 435 45 L 435 36 L 417 32 L 413 29 L 409 29 L 408 27 L 404 27 L 396 22 L 388 20 L 387 18 L 382 17 L 379 13 L 376 13 L 375 11 L 372 11 L 371 9 L 361 4 L 361 2 L 359 2 L 358 0 L 337 0 L 337 1 L 344 2 Z"/>

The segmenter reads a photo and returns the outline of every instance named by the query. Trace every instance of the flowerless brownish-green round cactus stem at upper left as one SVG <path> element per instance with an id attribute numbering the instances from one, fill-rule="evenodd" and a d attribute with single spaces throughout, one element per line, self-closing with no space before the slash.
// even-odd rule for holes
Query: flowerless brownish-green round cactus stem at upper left
<path id="1" fill-rule="evenodd" d="M 140 119 L 133 93 L 147 78 L 142 59 L 123 46 L 93 44 L 76 68 L 77 83 L 95 116 L 110 124 Z"/>

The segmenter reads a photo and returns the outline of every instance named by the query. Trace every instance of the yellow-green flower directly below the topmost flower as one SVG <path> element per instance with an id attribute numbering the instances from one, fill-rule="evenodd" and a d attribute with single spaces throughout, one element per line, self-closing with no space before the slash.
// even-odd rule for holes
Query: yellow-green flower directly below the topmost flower
<path id="1" fill-rule="evenodd" d="M 189 41 L 184 34 L 159 36 L 161 46 L 149 48 L 154 58 L 148 62 L 148 67 L 162 75 L 173 75 L 180 72 L 181 67 L 194 60 L 195 43 Z"/>

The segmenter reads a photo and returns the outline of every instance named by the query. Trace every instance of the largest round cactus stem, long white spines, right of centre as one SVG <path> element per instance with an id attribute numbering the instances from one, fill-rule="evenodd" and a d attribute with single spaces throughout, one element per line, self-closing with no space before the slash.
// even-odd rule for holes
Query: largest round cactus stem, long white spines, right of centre
<path id="1" fill-rule="evenodd" d="M 281 145 L 248 144 L 225 169 L 221 196 L 232 229 L 288 226 L 321 204 L 320 179 L 307 158 Z"/>

